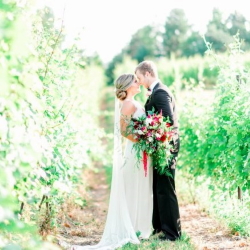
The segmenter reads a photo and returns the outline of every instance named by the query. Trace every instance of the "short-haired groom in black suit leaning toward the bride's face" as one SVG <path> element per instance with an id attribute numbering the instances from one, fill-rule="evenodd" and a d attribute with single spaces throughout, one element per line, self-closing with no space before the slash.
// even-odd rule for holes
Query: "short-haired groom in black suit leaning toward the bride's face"
<path id="1" fill-rule="evenodd" d="M 175 167 L 179 152 L 178 121 L 175 107 L 175 99 L 170 90 L 158 79 L 155 64 L 152 61 L 143 61 L 135 69 L 135 74 L 141 85 L 147 88 L 151 95 L 145 104 L 146 112 L 153 108 L 155 112 L 170 118 L 171 125 L 175 131 L 173 140 L 173 159 L 168 164 L 168 168 L 173 178 L 159 175 L 157 170 L 153 170 L 153 234 L 162 232 L 161 240 L 175 241 L 181 236 L 181 224 L 178 200 L 175 192 Z"/>

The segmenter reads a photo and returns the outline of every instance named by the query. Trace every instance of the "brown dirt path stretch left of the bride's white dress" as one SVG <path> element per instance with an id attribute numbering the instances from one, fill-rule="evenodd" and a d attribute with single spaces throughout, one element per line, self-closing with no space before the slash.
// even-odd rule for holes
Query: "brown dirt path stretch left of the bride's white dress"
<path id="1" fill-rule="evenodd" d="M 63 249 L 70 245 L 92 245 L 100 241 L 104 230 L 109 199 L 109 187 L 105 172 L 88 172 L 88 204 L 80 209 L 78 206 L 65 209 L 64 222 L 59 232 L 58 241 Z M 83 198 L 86 192 L 83 191 Z"/>

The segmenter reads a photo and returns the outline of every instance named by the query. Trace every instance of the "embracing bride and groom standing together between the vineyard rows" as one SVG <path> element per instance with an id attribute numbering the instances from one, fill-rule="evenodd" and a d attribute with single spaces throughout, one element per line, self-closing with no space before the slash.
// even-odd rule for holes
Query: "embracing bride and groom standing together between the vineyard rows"
<path id="1" fill-rule="evenodd" d="M 150 92 L 144 107 L 135 100 L 141 85 Z M 175 241 L 181 237 L 178 199 L 175 191 L 175 168 L 180 147 L 175 98 L 158 78 L 152 61 L 137 65 L 134 74 L 122 74 L 115 81 L 114 154 L 109 208 L 104 232 L 96 245 L 72 246 L 72 250 L 113 250 L 127 243 L 139 244 L 140 240 L 156 235 L 160 240 Z M 166 167 L 172 177 L 161 175 L 154 161 L 147 160 L 147 175 L 143 162 L 137 167 L 138 158 L 133 145 L 133 134 L 125 131 L 128 119 L 147 115 L 154 110 L 168 117 L 175 131 L 171 161 Z M 126 145 L 122 151 L 122 137 Z"/>

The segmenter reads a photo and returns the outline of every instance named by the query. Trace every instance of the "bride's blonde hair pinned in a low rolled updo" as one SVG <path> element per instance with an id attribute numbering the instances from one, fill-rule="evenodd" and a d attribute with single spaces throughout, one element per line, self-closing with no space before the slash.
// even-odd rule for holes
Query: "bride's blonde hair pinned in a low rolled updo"
<path id="1" fill-rule="evenodd" d="M 127 89 L 134 82 L 135 76 L 133 74 L 122 74 L 115 81 L 116 97 L 123 101 L 127 97 Z"/>

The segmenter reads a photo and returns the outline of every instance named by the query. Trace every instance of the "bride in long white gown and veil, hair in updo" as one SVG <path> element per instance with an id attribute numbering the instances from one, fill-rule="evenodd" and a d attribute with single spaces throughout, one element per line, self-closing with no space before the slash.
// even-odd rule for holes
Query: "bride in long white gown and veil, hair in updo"
<path id="1" fill-rule="evenodd" d="M 113 250 L 128 242 L 139 244 L 140 239 L 151 235 L 153 212 L 153 169 L 148 160 L 145 177 L 143 164 L 137 167 L 133 150 L 133 135 L 125 133 L 129 117 L 145 114 L 134 97 L 140 92 L 140 84 L 133 74 L 122 74 L 115 82 L 115 126 L 112 183 L 109 209 L 104 232 L 97 245 L 72 246 L 72 250 Z M 121 136 L 126 138 L 124 153 Z"/>

